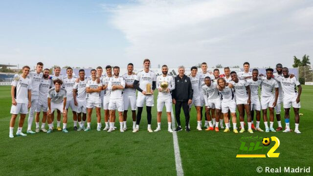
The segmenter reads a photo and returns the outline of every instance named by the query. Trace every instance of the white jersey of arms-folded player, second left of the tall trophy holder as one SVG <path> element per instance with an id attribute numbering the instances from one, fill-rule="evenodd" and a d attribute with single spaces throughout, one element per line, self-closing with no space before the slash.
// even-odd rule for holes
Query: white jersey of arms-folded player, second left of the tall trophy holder
<path id="1" fill-rule="evenodd" d="M 122 78 L 121 76 L 118 76 L 117 78 L 113 76 L 109 79 L 108 89 L 111 90 L 110 99 L 123 98 L 123 89 L 112 90 L 112 86 L 119 86 L 119 85 L 125 88 L 125 81 L 124 81 L 124 78 Z"/>

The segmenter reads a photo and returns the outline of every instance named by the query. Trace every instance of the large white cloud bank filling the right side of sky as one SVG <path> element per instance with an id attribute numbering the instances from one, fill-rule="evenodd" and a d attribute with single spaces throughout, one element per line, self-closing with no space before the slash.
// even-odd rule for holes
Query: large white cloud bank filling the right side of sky
<path id="1" fill-rule="evenodd" d="M 297 28 L 312 24 L 312 5 L 296 0 L 138 0 L 103 7 L 131 44 L 127 57 L 138 63 L 143 58 L 151 58 L 154 66 L 249 61 L 256 67 L 291 66 L 293 55 L 310 55 L 312 30 L 299 33 Z"/>

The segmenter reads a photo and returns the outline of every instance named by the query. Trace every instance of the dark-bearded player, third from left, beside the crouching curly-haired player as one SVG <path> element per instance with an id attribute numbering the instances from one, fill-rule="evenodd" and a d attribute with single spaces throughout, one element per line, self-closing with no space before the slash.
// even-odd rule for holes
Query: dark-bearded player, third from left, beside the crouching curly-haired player
<path id="1" fill-rule="evenodd" d="M 40 111 L 43 110 L 43 119 L 41 124 L 41 131 L 47 132 L 45 130 L 45 122 L 47 119 L 47 110 L 48 110 L 48 91 L 50 89 L 51 80 L 49 79 L 50 70 L 48 68 L 44 69 L 43 78 L 40 81 L 39 85 L 39 99 L 38 99 L 38 106 L 36 108 L 36 132 L 39 132 L 39 120 L 40 120 Z"/>

